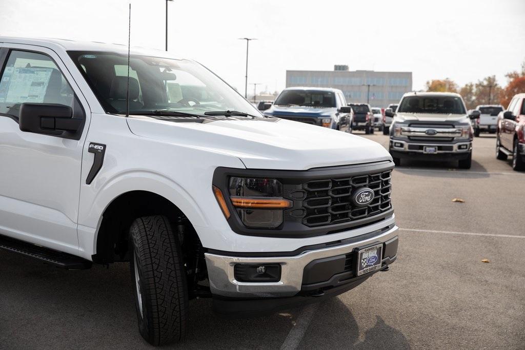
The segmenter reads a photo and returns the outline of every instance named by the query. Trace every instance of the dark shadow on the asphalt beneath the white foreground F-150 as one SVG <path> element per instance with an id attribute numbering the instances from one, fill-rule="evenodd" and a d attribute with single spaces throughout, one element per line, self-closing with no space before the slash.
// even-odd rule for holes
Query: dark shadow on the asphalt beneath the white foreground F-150
<path id="1" fill-rule="evenodd" d="M 151 348 L 138 331 L 128 263 L 67 271 L 0 251 L 0 295 L 6 348 Z M 186 340 L 175 347 L 280 348 L 301 310 L 226 319 L 212 311 L 211 300 L 192 300 Z M 360 339 L 358 323 L 338 298 L 319 305 L 298 345 L 408 348 L 405 336 L 379 316 Z"/>

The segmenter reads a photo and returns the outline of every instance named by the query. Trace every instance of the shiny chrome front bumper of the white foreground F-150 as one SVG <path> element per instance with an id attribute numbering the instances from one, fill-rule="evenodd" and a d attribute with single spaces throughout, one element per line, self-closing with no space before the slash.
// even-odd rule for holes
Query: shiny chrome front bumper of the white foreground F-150
<path id="1" fill-rule="evenodd" d="M 303 270 L 313 260 L 330 258 L 351 252 L 354 248 L 370 243 L 386 242 L 397 236 L 397 226 L 380 235 L 354 241 L 349 244 L 305 251 L 291 257 L 231 257 L 205 253 L 208 269 L 209 287 L 213 294 L 237 298 L 266 298 L 276 296 L 293 296 L 301 291 Z M 261 238 L 262 239 L 262 238 Z M 235 280 L 235 264 L 269 264 L 281 265 L 281 279 L 278 282 L 239 282 Z M 330 278 L 327 277 L 327 278 Z"/>

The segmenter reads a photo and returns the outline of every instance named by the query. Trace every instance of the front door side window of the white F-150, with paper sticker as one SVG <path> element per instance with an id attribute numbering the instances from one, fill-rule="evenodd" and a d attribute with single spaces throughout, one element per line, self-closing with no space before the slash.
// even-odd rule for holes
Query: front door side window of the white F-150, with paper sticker
<path id="1" fill-rule="evenodd" d="M 75 94 L 55 62 L 44 54 L 13 50 L 0 78 L 0 113 L 18 116 L 20 104 L 74 107 Z"/>

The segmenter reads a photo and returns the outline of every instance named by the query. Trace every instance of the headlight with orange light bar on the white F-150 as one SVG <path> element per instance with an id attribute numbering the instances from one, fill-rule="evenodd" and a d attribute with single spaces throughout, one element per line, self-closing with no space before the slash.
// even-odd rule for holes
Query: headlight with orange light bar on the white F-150
<path id="1" fill-rule="evenodd" d="M 292 205 L 282 198 L 282 185 L 273 178 L 232 177 L 229 195 L 243 224 L 253 228 L 278 227 L 283 210 Z"/>

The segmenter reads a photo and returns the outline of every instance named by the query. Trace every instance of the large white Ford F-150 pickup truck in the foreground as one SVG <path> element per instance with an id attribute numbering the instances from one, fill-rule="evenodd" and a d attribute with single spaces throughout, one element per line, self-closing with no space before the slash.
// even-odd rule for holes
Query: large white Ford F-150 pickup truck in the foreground
<path id="1" fill-rule="evenodd" d="M 164 51 L 0 37 L 0 67 L 0 248 L 129 262 L 150 344 L 181 340 L 190 299 L 274 312 L 397 257 L 394 163 L 375 142 L 264 116 Z"/>

